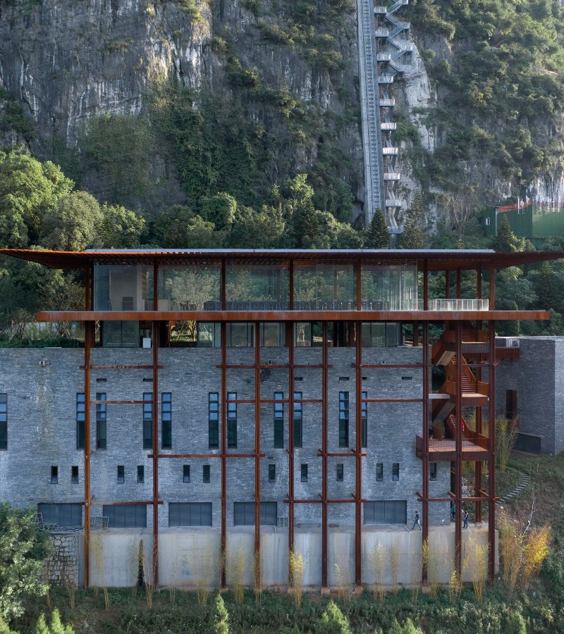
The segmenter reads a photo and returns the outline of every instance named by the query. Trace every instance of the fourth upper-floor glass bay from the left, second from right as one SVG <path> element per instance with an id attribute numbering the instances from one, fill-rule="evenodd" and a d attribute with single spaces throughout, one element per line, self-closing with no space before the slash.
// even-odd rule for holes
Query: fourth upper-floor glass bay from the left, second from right
<path id="1" fill-rule="evenodd" d="M 356 274 L 352 264 L 298 264 L 294 268 L 294 309 L 356 309 Z"/>

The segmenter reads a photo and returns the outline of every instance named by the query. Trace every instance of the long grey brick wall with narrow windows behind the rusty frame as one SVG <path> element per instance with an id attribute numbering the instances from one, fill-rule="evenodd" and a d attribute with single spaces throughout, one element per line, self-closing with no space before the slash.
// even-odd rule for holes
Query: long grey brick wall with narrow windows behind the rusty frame
<path id="1" fill-rule="evenodd" d="M 208 394 L 221 392 L 219 349 L 161 349 L 159 362 L 159 408 L 161 392 L 172 394 L 172 448 L 161 448 L 159 411 L 159 451 L 163 454 L 215 454 L 209 449 Z M 284 348 L 262 348 L 261 362 L 273 365 L 288 361 Z M 329 452 L 350 457 L 330 457 L 329 497 L 350 499 L 355 490 L 355 359 L 353 348 L 329 349 Z M 1 349 L 0 392 L 8 394 L 8 451 L 0 452 L 0 497 L 16 506 L 39 502 L 81 502 L 84 493 L 84 453 L 76 449 L 76 394 L 83 392 L 82 350 Z M 255 349 L 228 349 L 228 363 L 252 364 Z M 419 363 L 422 349 L 410 347 L 363 349 L 364 363 Z M 152 351 L 143 349 L 95 349 L 92 363 L 152 363 Z M 295 363 L 321 363 L 320 348 L 295 350 Z M 362 388 L 369 398 L 420 398 L 420 368 L 364 368 Z M 152 391 L 150 370 L 92 371 L 92 399 L 105 392 L 109 400 L 142 399 Z M 229 369 L 228 391 L 238 399 L 254 399 L 254 369 Z M 288 371 L 268 368 L 261 372 L 262 399 L 273 399 L 274 392 L 288 397 Z M 296 368 L 295 391 L 304 399 L 321 398 L 321 369 Z M 349 444 L 338 447 L 339 392 L 349 392 Z M 261 407 L 260 489 L 263 500 L 277 502 L 278 516 L 288 516 L 288 404 L 284 405 L 284 448 L 274 449 L 274 405 Z M 422 461 L 415 456 L 415 435 L 422 433 L 421 403 L 368 404 L 368 447 L 362 458 L 362 497 L 369 500 L 407 501 L 410 521 L 422 489 Z M 104 502 L 152 499 L 152 459 L 142 448 L 142 406 L 107 406 L 107 449 L 96 448 L 96 414 L 91 407 L 92 515 L 102 514 Z M 220 425 L 221 429 L 221 425 Z M 221 445 L 221 442 L 220 442 Z M 254 403 L 238 404 L 238 446 L 231 451 L 252 453 L 255 448 Z M 295 449 L 295 497 L 319 499 L 321 493 L 321 403 L 303 406 L 303 447 Z M 384 466 L 384 480 L 376 482 L 376 464 Z M 400 464 L 400 479 L 392 480 L 392 464 Z M 343 463 L 343 482 L 336 480 L 336 465 Z M 183 465 L 190 465 L 190 483 L 183 483 Z M 202 467 L 209 464 L 209 483 L 202 481 Z M 276 465 L 276 481 L 268 481 L 268 465 Z M 300 479 L 300 465 L 308 465 L 307 483 Z M 51 484 L 51 465 L 59 467 L 59 483 Z M 79 483 L 71 483 L 71 466 L 79 468 Z M 117 467 L 125 468 L 125 482 L 117 482 Z M 145 482 L 137 483 L 137 466 L 145 466 Z M 227 461 L 227 526 L 233 526 L 233 502 L 251 502 L 255 491 L 255 459 Z M 450 464 L 439 463 L 437 480 L 430 493 L 446 497 L 450 485 Z M 212 502 L 213 526 L 221 522 L 221 461 L 206 459 L 160 459 L 159 525 L 168 526 L 168 502 Z M 320 504 L 297 504 L 296 521 L 302 524 L 321 521 Z M 430 522 L 448 521 L 448 503 L 431 504 Z M 354 522 L 353 504 L 331 504 L 329 522 L 347 526 Z M 152 526 L 152 506 L 147 506 L 147 526 Z"/>

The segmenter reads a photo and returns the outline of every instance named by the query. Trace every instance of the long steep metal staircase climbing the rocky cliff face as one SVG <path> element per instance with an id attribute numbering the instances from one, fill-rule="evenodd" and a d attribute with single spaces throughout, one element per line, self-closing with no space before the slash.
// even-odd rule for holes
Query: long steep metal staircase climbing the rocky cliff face
<path id="1" fill-rule="evenodd" d="M 401 232 L 397 212 L 402 203 L 397 196 L 401 175 L 396 168 L 398 147 L 393 133 L 397 124 L 392 117 L 396 100 L 391 91 L 396 77 L 411 63 L 410 24 L 397 16 L 408 2 L 397 0 L 391 6 L 374 6 L 373 0 L 357 0 L 364 119 L 364 219 L 368 225 L 374 210 L 384 209 L 386 225 L 392 234 Z"/>

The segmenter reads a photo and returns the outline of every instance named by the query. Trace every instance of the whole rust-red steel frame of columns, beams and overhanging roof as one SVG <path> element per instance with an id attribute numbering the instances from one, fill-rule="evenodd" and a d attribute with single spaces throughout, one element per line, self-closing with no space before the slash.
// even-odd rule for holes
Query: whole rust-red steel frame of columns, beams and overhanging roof
<path id="1" fill-rule="evenodd" d="M 255 464 L 255 557 L 260 561 L 260 459 L 265 455 L 260 447 L 260 407 L 262 404 L 273 403 L 274 399 L 261 399 L 260 397 L 260 371 L 263 368 L 282 368 L 288 371 L 288 398 L 283 399 L 284 404 L 288 404 L 288 495 L 284 502 L 288 504 L 288 544 L 293 548 L 294 524 L 295 524 L 295 504 L 321 504 L 321 581 L 322 585 L 328 585 L 328 506 L 329 504 L 354 504 L 355 505 L 355 584 L 362 583 L 362 457 L 366 455 L 362 451 L 362 403 L 384 403 L 384 402 L 421 402 L 422 403 L 422 492 L 418 494 L 418 499 L 422 502 L 422 538 L 429 537 L 429 504 L 431 502 L 445 502 L 450 499 L 455 501 L 456 523 L 455 523 L 455 564 L 460 571 L 461 565 L 461 512 L 462 504 L 466 501 L 476 502 L 477 519 L 482 519 L 482 503 L 487 502 L 489 511 L 489 576 L 494 577 L 495 566 L 495 504 L 496 504 L 496 480 L 495 480 L 495 323 L 496 320 L 508 319 L 547 319 L 546 311 L 496 311 L 495 306 L 495 270 L 504 266 L 512 266 L 514 263 L 544 261 L 546 259 L 556 259 L 564 257 L 564 253 L 551 254 L 494 254 L 493 251 L 350 251 L 344 253 L 337 251 L 331 258 L 331 252 L 327 251 L 294 251 L 283 253 L 279 251 L 199 251 L 199 252 L 135 252 L 135 251 L 114 251 L 114 252 L 85 252 L 58 253 L 54 251 L 23 251 L 23 250 L 0 250 L 11 256 L 39 261 L 53 268 L 82 268 L 85 271 L 85 310 L 84 311 L 54 311 L 38 313 L 37 318 L 42 321 L 59 321 L 61 319 L 81 321 L 85 325 L 85 348 L 84 348 L 84 390 L 85 402 L 90 406 L 96 401 L 91 398 L 91 371 L 99 368 L 114 368 L 117 370 L 147 368 L 152 370 L 152 450 L 148 457 L 152 459 L 153 466 L 153 486 L 152 499 L 144 502 L 128 501 L 114 502 L 115 504 L 151 504 L 152 531 L 153 531 L 153 574 L 154 584 L 159 583 L 159 504 L 163 502 L 159 499 L 159 459 L 168 458 L 206 458 L 219 459 L 221 463 L 221 552 L 222 561 L 225 561 L 226 554 L 226 504 L 227 504 L 227 478 L 228 461 L 231 459 L 253 460 Z M 157 279 L 159 265 L 161 263 L 187 263 L 192 259 L 205 256 L 221 261 L 221 306 L 220 311 L 159 311 L 159 299 L 157 289 Z M 417 311 L 295 311 L 293 306 L 293 271 L 296 262 L 311 261 L 312 257 L 318 257 L 323 261 L 353 263 L 356 269 L 356 292 L 357 306 L 361 306 L 361 269 L 365 263 L 397 263 L 397 261 L 416 261 L 418 269 L 422 272 L 423 278 L 423 310 Z M 226 311 L 226 261 L 228 259 L 243 258 L 245 262 L 264 262 L 271 259 L 283 259 L 287 262 L 289 271 L 290 288 L 290 310 L 289 311 Z M 154 280 L 154 306 L 152 311 L 112 311 L 100 312 L 92 310 L 93 299 L 93 268 L 94 263 L 145 263 L 152 264 Z M 429 311 L 428 282 L 429 271 L 444 271 L 446 278 L 446 297 L 450 294 L 450 271 L 456 273 L 456 295 L 460 297 L 461 271 L 474 269 L 477 271 L 477 294 L 482 297 L 482 273 L 489 271 L 489 310 L 488 311 Z M 186 453 L 186 454 L 161 454 L 158 447 L 158 390 L 159 390 L 159 369 L 163 366 L 159 364 L 159 332 L 162 323 L 173 319 L 193 319 L 199 321 L 215 321 L 220 323 L 221 328 L 221 363 L 217 368 L 221 372 L 221 450 L 219 453 Z M 92 364 L 91 352 L 94 345 L 94 325 L 98 320 L 111 321 L 150 321 L 152 322 L 152 363 L 147 366 L 97 366 Z M 422 363 L 414 364 L 377 364 L 362 362 L 362 335 L 361 326 L 363 321 L 403 321 L 414 324 L 414 345 L 419 344 L 419 327 L 422 327 Z M 431 323 L 454 323 L 456 330 L 455 356 L 462 359 L 462 322 L 473 320 L 477 325 L 482 321 L 489 326 L 488 346 L 489 353 L 485 365 L 488 368 L 489 378 L 489 406 L 488 406 L 488 436 L 487 462 L 489 467 L 489 488 L 484 491 L 481 488 L 482 463 L 476 460 L 475 473 L 477 476 L 477 491 L 472 497 L 462 497 L 462 460 L 465 459 L 465 450 L 462 448 L 460 433 L 455 437 L 455 490 L 448 498 L 433 498 L 429 496 L 429 411 L 430 411 L 430 370 L 431 357 L 429 346 L 429 325 Z M 255 362 L 248 365 L 229 364 L 226 346 L 226 323 L 230 321 L 252 321 L 255 323 Z M 260 359 L 260 336 L 259 323 L 265 321 L 286 321 L 286 346 L 288 347 L 288 363 L 263 366 Z M 321 344 L 321 364 L 300 365 L 295 363 L 295 344 L 293 341 L 293 324 L 299 321 L 321 322 L 323 325 L 323 336 Z M 347 321 L 350 323 L 350 342 L 353 344 L 351 335 L 355 334 L 355 448 L 350 452 L 329 452 L 328 442 L 328 376 L 329 368 L 329 323 Z M 482 378 L 482 365 L 477 366 L 477 376 Z M 457 363 L 457 383 L 462 385 L 463 363 Z M 379 399 L 362 398 L 362 371 L 375 368 L 420 368 L 422 369 L 422 397 L 417 399 Z M 294 373 L 296 368 L 321 369 L 321 399 L 302 399 L 302 402 L 315 402 L 321 404 L 321 449 L 317 456 L 321 458 L 322 467 L 322 490 L 319 498 L 298 499 L 294 495 Z M 228 394 L 228 371 L 252 370 L 255 378 L 255 398 L 251 400 L 237 399 L 237 403 L 252 403 L 255 406 L 255 447 L 250 453 L 228 452 L 227 448 L 227 394 Z M 121 403 L 137 404 L 140 401 L 130 400 Z M 106 402 L 111 403 L 111 402 Z M 85 483 L 84 483 L 84 506 L 85 506 L 85 585 L 90 585 L 90 520 L 91 520 L 91 467 L 90 467 L 90 406 L 85 408 Z M 477 408 L 478 411 L 478 408 Z M 462 417 L 462 390 L 460 387 L 455 393 L 455 416 L 457 429 L 460 429 Z M 482 432 L 482 408 L 477 414 L 477 431 Z M 351 492 L 349 499 L 331 499 L 328 495 L 328 458 L 329 456 L 339 456 L 342 458 L 354 459 L 355 464 L 355 491 Z M 111 502 L 104 502 L 108 504 Z M 96 502 L 101 504 L 101 502 Z M 258 566 L 260 571 L 260 566 Z M 426 576 L 427 571 L 423 571 Z M 260 573 L 259 573 L 260 574 Z M 256 579 L 257 582 L 260 579 Z M 226 571 L 224 566 L 221 570 L 221 584 L 226 584 Z"/>

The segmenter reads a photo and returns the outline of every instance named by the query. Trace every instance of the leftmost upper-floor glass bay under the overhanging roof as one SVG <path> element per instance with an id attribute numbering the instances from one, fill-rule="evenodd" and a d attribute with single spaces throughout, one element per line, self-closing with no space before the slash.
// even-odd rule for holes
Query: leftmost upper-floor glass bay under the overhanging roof
<path id="1" fill-rule="evenodd" d="M 94 264 L 95 311 L 152 311 L 152 298 L 152 266 Z"/>

